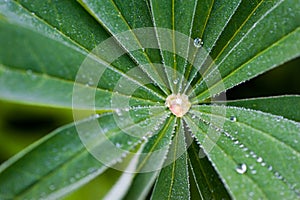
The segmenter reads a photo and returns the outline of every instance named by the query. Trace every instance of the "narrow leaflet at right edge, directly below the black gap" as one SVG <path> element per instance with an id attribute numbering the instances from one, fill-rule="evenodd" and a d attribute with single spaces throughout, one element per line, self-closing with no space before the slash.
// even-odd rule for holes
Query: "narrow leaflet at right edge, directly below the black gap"
<path id="1" fill-rule="evenodd" d="M 253 99 L 241 99 L 235 101 L 227 101 L 226 104 L 229 106 L 238 106 L 254 110 L 261 110 L 263 112 L 283 116 L 285 118 L 300 122 L 299 95 L 283 95 Z"/>

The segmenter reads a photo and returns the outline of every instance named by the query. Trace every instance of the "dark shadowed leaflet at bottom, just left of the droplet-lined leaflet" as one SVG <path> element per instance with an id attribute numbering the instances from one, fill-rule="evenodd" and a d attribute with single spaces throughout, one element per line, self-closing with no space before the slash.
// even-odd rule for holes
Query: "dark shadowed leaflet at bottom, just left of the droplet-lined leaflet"
<path id="1" fill-rule="evenodd" d="M 196 191 L 201 199 L 230 199 L 219 175 L 213 169 L 203 150 L 193 142 L 188 149 L 190 178 L 195 180 Z M 192 194 L 191 195 L 196 195 Z"/>

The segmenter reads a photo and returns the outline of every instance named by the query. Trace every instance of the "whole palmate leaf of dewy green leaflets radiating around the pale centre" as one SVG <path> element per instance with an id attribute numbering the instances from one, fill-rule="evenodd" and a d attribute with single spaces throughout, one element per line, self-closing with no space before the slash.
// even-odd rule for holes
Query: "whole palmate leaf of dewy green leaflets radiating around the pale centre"
<path id="1" fill-rule="evenodd" d="M 299 6 L 298 0 L 0 2 L 0 98 L 73 108 L 75 118 L 78 109 L 108 112 L 62 127 L 4 163 L 0 198 L 62 197 L 126 155 L 138 173 L 121 176 L 107 198 L 123 184 L 115 197 L 299 198 L 297 95 L 199 105 L 298 57 Z M 133 31 L 144 27 L 156 28 L 150 34 L 157 49 L 145 49 L 145 38 Z M 171 30 L 168 40 L 159 28 Z M 177 31 L 192 42 L 180 41 Z M 94 49 L 111 36 L 111 46 Z M 195 48 L 196 38 L 202 47 Z M 195 60 L 187 60 L 190 54 Z M 80 77 L 82 65 L 94 70 Z M 91 79 L 97 73 L 100 79 Z M 136 90 L 129 94 L 128 86 Z M 182 118 L 164 105 L 177 92 L 192 102 Z M 207 157 L 199 159 L 198 151 Z"/>

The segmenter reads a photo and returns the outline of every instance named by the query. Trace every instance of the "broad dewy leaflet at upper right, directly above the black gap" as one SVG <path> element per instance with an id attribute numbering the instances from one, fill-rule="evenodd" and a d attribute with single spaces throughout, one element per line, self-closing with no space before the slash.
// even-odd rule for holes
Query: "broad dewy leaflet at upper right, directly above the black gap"
<path id="1" fill-rule="evenodd" d="M 202 73 L 204 77 L 198 80 L 193 91 L 198 93 L 193 102 L 201 102 L 212 95 L 206 89 L 205 82 L 213 83 L 210 91 L 217 94 L 299 56 L 300 16 L 296 2 L 288 0 L 258 4 L 260 7 L 250 13 L 249 19 L 245 19 L 245 27 L 237 30 L 241 33 L 234 35 L 237 39 L 232 39 L 228 52 L 224 52 L 222 59 L 215 60 L 215 66 L 209 66 Z M 261 17 L 256 19 L 256 15 Z M 277 28 L 279 24 L 280 31 Z M 270 34 L 272 37 L 264 37 Z"/>

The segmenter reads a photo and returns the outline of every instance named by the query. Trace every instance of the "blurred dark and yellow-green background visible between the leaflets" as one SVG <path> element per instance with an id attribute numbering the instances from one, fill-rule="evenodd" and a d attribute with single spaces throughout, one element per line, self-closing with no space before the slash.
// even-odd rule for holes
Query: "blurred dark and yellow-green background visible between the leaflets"
<path id="1" fill-rule="evenodd" d="M 300 94 L 300 58 L 227 91 L 226 96 L 228 100 L 233 100 L 283 94 Z M 0 100 L 0 163 L 54 129 L 72 121 L 70 110 Z M 100 199 L 119 175 L 115 170 L 108 170 L 66 199 Z"/>

